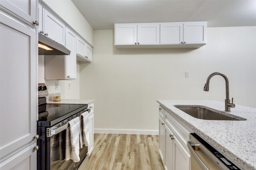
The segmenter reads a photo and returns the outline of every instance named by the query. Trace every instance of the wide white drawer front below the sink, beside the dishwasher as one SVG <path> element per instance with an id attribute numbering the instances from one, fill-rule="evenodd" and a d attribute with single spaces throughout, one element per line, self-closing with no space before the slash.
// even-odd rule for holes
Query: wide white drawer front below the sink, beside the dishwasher
<path id="1" fill-rule="evenodd" d="M 193 131 L 182 125 L 176 118 L 170 113 L 165 111 L 164 121 L 166 125 L 172 130 L 174 135 L 178 138 L 183 147 L 189 152 L 187 147 L 187 141 L 189 141 L 189 134 Z"/>

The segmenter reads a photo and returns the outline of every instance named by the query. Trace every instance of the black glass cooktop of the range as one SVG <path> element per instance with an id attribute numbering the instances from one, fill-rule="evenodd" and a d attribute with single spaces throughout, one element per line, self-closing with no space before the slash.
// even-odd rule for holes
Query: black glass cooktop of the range
<path id="1" fill-rule="evenodd" d="M 47 104 L 46 111 L 38 114 L 39 126 L 54 125 L 88 107 L 87 104 Z M 42 122 L 44 122 L 42 125 Z"/>

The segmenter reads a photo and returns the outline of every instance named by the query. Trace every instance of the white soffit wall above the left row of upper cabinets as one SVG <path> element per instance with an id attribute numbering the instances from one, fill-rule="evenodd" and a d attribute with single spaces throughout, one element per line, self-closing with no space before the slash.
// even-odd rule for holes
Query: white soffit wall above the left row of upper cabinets
<path id="1" fill-rule="evenodd" d="M 54 12 L 93 45 L 93 28 L 71 0 L 43 0 Z"/>

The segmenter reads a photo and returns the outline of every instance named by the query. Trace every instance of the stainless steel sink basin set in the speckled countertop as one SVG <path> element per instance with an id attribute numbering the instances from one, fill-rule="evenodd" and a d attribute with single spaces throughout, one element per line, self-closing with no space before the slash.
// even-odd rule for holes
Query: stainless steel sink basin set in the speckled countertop
<path id="1" fill-rule="evenodd" d="M 239 120 L 202 107 L 176 107 L 188 115 L 204 120 Z"/>

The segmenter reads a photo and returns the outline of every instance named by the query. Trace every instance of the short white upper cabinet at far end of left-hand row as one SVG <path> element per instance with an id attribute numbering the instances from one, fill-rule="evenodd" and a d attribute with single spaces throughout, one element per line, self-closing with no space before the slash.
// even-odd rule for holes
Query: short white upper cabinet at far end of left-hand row
<path id="1" fill-rule="evenodd" d="M 76 44 L 77 61 L 92 62 L 92 47 L 78 36 L 76 38 Z"/>

